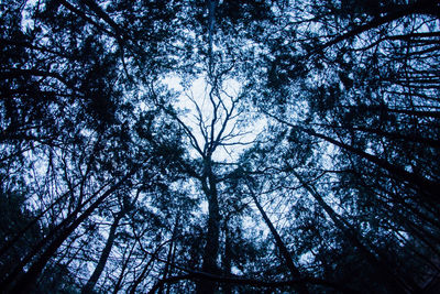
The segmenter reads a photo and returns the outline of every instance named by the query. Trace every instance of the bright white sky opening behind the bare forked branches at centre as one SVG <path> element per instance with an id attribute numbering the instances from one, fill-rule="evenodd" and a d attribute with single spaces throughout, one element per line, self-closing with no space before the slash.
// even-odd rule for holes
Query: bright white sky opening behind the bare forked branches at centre
<path id="1" fill-rule="evenodd" d="M 241 106 L 242 88 L 235 79 L 224 80 L 218 90 L 212 89 L 206 77 L 197 78 L 189 87 L 184 87 L 175 76 L 167 77 L 164 84 L 180 94 L 175 108 L 201 150 L 207 141 L 220 135 L 221 145 L 212 154 L 215 161 L 237 161 L 265 126 L 264 120 Z M 191 155 L 199 157 L 196 150 Z"/>

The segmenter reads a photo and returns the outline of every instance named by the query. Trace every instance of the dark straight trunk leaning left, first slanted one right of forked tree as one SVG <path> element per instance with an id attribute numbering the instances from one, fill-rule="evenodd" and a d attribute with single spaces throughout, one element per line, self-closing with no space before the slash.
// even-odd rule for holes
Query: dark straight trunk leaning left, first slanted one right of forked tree
<path id="1" fill-rule="evenodd" d="M 267 217 L 266 213 L 264 211 L 263 207 L 260 205 L 258 200 L 256 199 L 255 194 L 253 193 L 252 188 L 248 185 L 249 192 L 251 194 L 252 199 L 254 200 L 256 207 L 260 210 L 260 214 L 262 215 L 264 222 L 266 222 L 266 226 L 268 227 L 268 229 L 271 230 L 271 233 L 273 235 L 276 246 L 278 247 L 279 252 L 283 254 L 284 261 L 287 264 L 287 268 L 290 271 L 292 277 L 294 280 L 300 280 L 301 273 L 299 272 L 298 268 L 295 265 L 294 261 L 292 260 L 292 255 L 288 252 L 285 243 L 283 242 L 280 236 L 278 235 L 278 232 L 276 231 L 274 225 L 272 224 L 271 219 Z M 300 294 L 307 294 L 309 293 L 307 286 L 305 284 L 298 284 L 297 285 L 297 291 Z"/>

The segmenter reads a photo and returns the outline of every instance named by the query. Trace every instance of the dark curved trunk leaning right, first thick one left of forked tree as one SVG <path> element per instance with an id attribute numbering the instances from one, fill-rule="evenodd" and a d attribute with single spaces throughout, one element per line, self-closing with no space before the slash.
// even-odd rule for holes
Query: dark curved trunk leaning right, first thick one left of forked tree
<path id="1" fill-rule="evenodd" d="M 111 224 L 109 237 L 108 237 L 106 246 L 102 250 L 101 257 L 99 258 L 98 264 L 95 268 L 95 271 L 91 274 L 89 281 L 87 281 L 87 284 L 82 287 L 82 291 L 81 291 L 82 294 L 92 293 L 96 283 L 98 282 L 99 277 L 101 276 L 101 273 L 106 266 L 107 260 L 109 259 L 111 248 L 113 247 L 114 240 L 117 238 L 117 229 L 119 226 L 119 221 L 121 220 L 123 215 L 124 215 L 123 211 L 120 211 L 114 217 L 114 220 L 113 220 L 113 224 Z"/>

